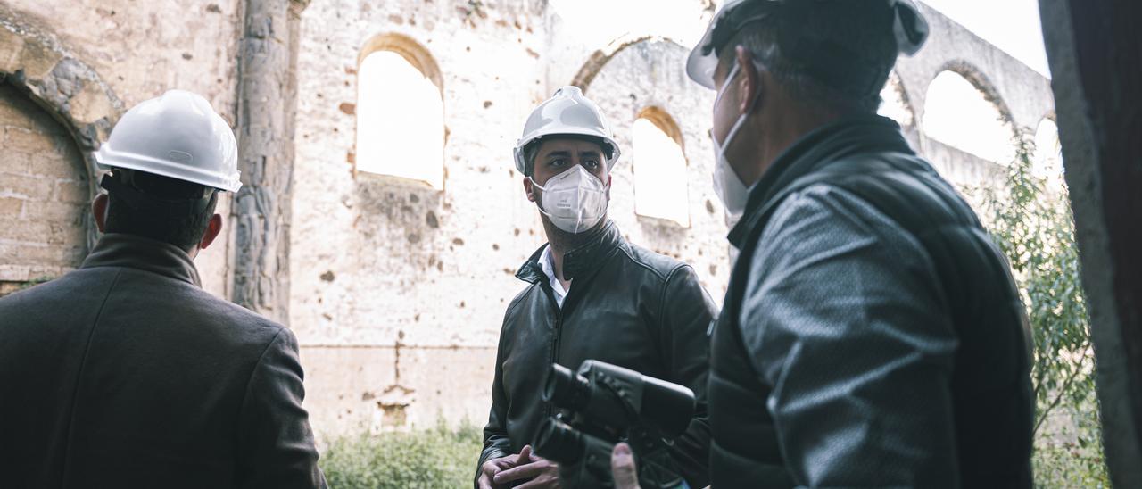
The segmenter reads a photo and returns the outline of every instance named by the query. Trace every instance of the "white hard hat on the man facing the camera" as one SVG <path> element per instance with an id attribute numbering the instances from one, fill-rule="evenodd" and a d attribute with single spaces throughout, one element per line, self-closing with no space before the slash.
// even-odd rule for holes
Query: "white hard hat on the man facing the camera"
<path id="1" fill-rule="evenodd" d="M 602 139 L 610 146 L 608 170 L 619 160 L 619 145 L 614 142 L 611 125 L 598 105 L 584 96 L 579 87 L 566 86 L 555 90 L 552 98 L 531 112 L 528 123 L 523 126 L 523 137 L 515 145 L 515 169 L 526 175 L 528 158 L 524 149 L 542 137 L 554 135 L 593 136 Z"/>

